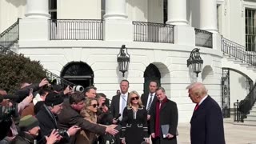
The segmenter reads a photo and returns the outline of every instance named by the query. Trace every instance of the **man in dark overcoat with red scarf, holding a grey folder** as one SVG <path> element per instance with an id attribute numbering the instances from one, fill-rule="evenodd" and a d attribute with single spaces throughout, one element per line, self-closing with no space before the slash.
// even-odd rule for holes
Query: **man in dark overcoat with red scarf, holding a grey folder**
<path id="1" fill-rule="evenodd" d="M 158 101 L 150 118 L 150 132 L 153 144 L 177 144 L 178 108 L 166 97 L 166 90 L 156 90 Z"/>

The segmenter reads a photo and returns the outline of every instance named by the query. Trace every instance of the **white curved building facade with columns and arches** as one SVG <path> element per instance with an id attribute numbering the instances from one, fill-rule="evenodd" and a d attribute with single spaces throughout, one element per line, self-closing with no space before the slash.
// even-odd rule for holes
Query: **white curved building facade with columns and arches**
<path id="1" fill-rule="evenodd" d="M 21 18 L 12 50 L 71 82 L 93 84 L 110 99 L 122 79 L 142 94 L 151 77 L 178 104 L 179 122 L 189 122 L 194 104 L 186 86 L 191 82 L 204 83 L 210 96 L 229 109 L 249 93 L 254 68 L 223 56 L 222 38 L 254 51 L 248 29 L 256 25 L 255 8 L 252 0 L 2 0 L 0 32 Z M 117 62 L 122 45 L 130 54 L 125 77 Z M 203 59 L 198 77 L 187 66 L 194 48 Z M 227 100 L 223 70 L 230 72 Z"/>

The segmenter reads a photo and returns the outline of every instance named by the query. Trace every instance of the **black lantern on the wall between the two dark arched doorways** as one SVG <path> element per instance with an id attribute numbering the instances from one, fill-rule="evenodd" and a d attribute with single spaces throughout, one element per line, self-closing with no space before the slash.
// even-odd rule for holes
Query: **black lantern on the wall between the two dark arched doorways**
<path id="1" fill-rule="evenodd" d="M 125 51 L 126 50 L 126 51 Z M 127 52 L 126 45 L 122 45 L 118 54 L 118 69 L 122 72 L 122 77 L 125 76 L 130 63 L 130 54 Z"/>

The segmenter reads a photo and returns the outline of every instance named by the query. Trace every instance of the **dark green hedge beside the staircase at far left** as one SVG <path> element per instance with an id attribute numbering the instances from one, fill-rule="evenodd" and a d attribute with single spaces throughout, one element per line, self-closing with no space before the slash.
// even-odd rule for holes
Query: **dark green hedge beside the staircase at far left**
<path id="1" fill-rule="evenodd" d="M 46 78 L 40 62 L 31 61 L 23 54 L 0 54 L 0 88 L 13 94 L 22 82 L 41 82 Z"/>

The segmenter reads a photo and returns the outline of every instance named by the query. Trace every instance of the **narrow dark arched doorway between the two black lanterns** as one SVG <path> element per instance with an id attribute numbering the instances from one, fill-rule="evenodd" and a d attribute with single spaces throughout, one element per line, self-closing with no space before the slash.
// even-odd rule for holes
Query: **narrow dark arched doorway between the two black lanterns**
<path id="1" fill-rule="evenodd" d="M 150 65 L 146 67 L 146 70 L 144 72 L 144 93 L 149 91 L 149 84 L 151 81 L 158 82 L 158 86 L 161 86 L 160 79 L 161 74 L 158 70 L 158 67 L 150 63 Z"/>

